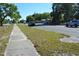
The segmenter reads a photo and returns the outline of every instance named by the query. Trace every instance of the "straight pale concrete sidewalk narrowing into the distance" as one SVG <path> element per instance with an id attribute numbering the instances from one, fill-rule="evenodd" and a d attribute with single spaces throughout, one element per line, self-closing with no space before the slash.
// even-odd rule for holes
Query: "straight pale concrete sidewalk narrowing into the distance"
<path id="1" fill-rule="evenodd" d="M 5 56 L 39 56 L 34 45 L 15 24 L 10 35 Z"/>

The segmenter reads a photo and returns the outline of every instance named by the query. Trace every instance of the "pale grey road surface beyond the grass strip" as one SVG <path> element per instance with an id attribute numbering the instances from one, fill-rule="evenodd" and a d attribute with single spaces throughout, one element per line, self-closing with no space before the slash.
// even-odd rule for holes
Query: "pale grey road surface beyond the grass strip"
<path id="1" fill-rule="evenodd" d="M 79 37 L 79 28 L 67 28 L 65 26 L 34 26 L 33 28 L 42 29 L 51 32 L 59 32 L 72 37 Z"/>

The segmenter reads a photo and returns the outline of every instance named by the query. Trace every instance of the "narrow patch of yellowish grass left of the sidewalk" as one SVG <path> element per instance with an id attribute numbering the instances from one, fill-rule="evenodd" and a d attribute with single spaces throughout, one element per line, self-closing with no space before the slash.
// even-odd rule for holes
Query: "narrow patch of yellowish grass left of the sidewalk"
<path id="1" fill-rule="evenodd" d="M 13 25 L 0 27 L 0 56 L 4 55 Z"/>

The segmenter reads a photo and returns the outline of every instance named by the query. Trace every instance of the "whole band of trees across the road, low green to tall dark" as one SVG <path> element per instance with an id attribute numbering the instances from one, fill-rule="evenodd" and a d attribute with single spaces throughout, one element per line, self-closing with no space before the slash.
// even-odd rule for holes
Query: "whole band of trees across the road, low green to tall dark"
<path id="1" fill-rule="evenodd" d="M 79 20 L 79 3 L 52 3 L 52 11 L 26 16 L 26 22 L 48 22 L 48 25 L 63 25 L 73 19 Z"/>

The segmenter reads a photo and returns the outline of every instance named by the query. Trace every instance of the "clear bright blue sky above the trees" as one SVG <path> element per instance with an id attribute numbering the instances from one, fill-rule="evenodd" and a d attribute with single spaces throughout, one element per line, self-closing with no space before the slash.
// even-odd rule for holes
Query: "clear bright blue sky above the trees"
<path id="1" fill-rule="evenodd" d="M 20 12 L 22 19 L 26 20 L 26 16 L 34 13 L 44 13 L 52 11 L 51 3 L 15 3 Z"/>

